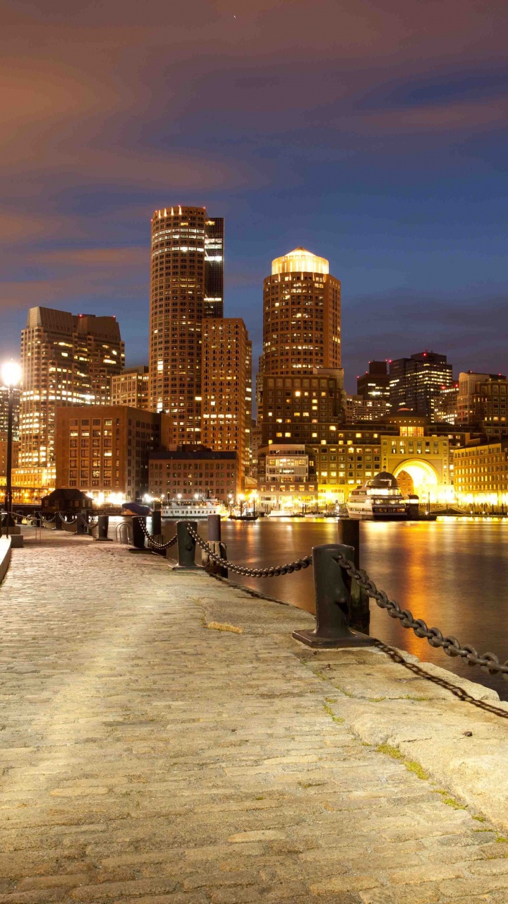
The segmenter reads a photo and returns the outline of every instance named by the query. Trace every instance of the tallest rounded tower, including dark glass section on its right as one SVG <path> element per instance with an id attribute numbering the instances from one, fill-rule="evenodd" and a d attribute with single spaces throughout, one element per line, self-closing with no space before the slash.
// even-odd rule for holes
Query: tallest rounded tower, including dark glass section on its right
<path id="1" fill-rule="evenodd" d="M 150 410 L 169 414 L 172 444 L 201 438 L 202 319 L 223 271 L 223 254 L 212 248 L 223 244 L 217 231 L 223 223 L 204 207 L 177 205 L 152 218 Z"/>

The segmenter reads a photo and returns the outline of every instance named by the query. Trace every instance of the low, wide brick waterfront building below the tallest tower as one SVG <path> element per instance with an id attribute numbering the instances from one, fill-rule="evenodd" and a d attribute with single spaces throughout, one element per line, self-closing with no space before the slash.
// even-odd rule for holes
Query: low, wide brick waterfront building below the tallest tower
<path id="1" fill-rule="evenodd" d="M 228 504 L 241 488 L 241 463 L 235 451 L 202 445 L 158 448 L 150 455 L 150 494 L 162 499 L 219 499 Z"/>

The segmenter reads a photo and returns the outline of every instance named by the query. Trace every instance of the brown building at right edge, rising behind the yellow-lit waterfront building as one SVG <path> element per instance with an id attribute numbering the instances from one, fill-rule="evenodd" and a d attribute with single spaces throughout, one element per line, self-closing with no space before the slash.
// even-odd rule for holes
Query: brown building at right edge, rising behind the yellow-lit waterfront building
<path id="1" fill-rule="evenodd" d="M 502 373 L 462 372 L 458 375 L 457 423 L 482 426 L 506 435 L 508 381 Z"/>

